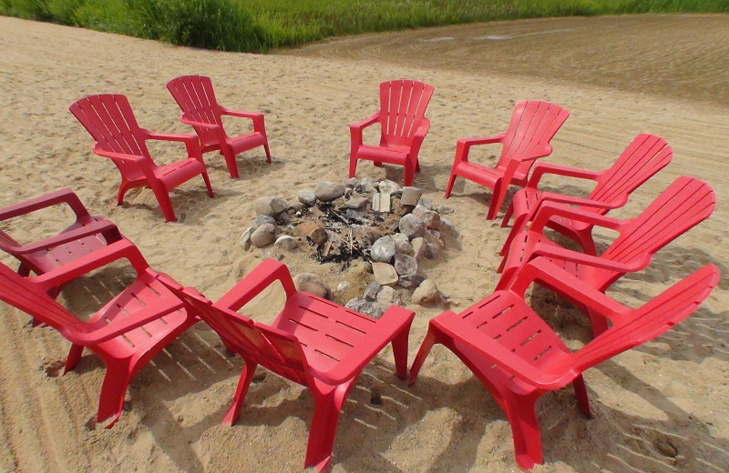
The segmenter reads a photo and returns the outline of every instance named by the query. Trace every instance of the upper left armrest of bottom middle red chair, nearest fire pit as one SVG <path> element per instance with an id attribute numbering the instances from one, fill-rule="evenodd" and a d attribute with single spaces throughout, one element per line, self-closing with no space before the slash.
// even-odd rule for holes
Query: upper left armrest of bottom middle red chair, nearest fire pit
<path id="1" fill-rule="evenodd" d="M 281 282 L 283 290 L 286 292 L 286 298 L 291 297 L 296 292 L 289 268 L 273 259 L 264 259 L 250 273 L 238 281 L 238 284 L 231 287 L 213 306 L 236 311 L 275 281 Z"/>

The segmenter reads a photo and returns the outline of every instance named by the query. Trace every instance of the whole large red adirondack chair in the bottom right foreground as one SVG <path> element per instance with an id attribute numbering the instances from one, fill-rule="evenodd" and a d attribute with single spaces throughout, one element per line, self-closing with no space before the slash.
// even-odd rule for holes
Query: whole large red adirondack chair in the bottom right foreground
<path id="1" fill-rule="evenodd" d="M 576 352 L 524 301 L 532 281 L 555 288 L 579 307 L 611 320 L 611 327 Z M 705 266 L 669 287 L 644 306 L 622 306 L 544 258 L 519 273 L 509 290 L 497 291 L 456 314 L 430 320 L 427 335 L 410 368 L 414 383 L 427 354 L 440 343 L 453 351 L 488 388 L 511 425 L 514 453 L 521 468 L 542 463 L 539 422 L 534 404 L 544 393 L 575 389 L 578 406 L 591 417 L 582 373 L 606 359 L 658 337 L 690 316 L 719 282 L 714 265 Z"/>

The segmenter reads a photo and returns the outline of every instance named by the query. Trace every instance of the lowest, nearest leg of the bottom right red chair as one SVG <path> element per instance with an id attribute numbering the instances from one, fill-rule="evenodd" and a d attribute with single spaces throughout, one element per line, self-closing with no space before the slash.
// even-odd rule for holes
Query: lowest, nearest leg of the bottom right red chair
<path id="1" fill-rule="evenodd" d="M 509 395 L 505 400 L 505 410 L 511 435 L 514 440 L 514 455 L 519 467 L 531 469 L 535 463 L 543 463 L 539 421 L 534 404 L 539 396 Z"/>

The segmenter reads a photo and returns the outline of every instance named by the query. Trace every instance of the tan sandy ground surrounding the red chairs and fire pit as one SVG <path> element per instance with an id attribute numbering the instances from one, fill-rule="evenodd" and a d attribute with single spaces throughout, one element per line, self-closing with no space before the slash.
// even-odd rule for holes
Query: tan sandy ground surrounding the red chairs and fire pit
<path id="1" fill-rule="evenodd" d="M 303 254 L 243 250 L 239 238 L 254 217 L 252 201 L 270 194 L 293 200 L 303 186 L 344 181 L 347 126 L 375 111 L 381 81 L 412 77 L 436 87 L 415 185 L 436 205 L 455 209 L 451 220 L 460 236 L 426 268 L 447 304 L 403 302 L 417 314 L 410 359 L 431 317 L 444 308 L 463 310 L 496 285 L 507 230 L 485 220 L 490 192 L 459 179 L 454 196 L 446 201 L 443 193 L 457 138 L 502 131 L 521 99 L 550 100 L 571 112 L 545 161 L 601 169 L 642 132 L 673 146 L 672 164 L 615 216 L 636 215 L 676 176 L 714 186 L 718 204 L 709 220 L 665 247 L 647 270 L 611 288 L 612 297 L 637 306 L 704 264 L 729 274 L 723 247 L 729 217 L 727 25 L 725 15 L 519 21 L 241 55 L 1 17 L 0 204 L 71 187 L 93 213 L 116 222 L 152 267 L 213 299 L 262 257 L 283 257 L 293 273 L 313 272 L 336 286 L 356 275 L 342 276 L 340 267 L 319 266 Z M 266 114 L 272 165 L 262 150 L 246 153 L 239 158 L 241 179 L 231 180 L 220 156 L 206 157 L 216 196 L 206 196 L 200 179 L 180 186 L 172 193 L 179 223 L 164 223 L 149 190 L 132 191 L 124 206 L 115 206 L 118 172 L 90 153 L 91 140 L 67 106 L 88 94 L 123 93 L 141 126 L 187 132 L 164 84 L 193 73 L 212 77 L 224 106 Z M 497 151 L 475 157 L 488 161 Z M 183 150 L 163 144 L 152 152 L 163 163 Z M 363 163 L 357 176 L 400 181 L 403 173 Z M 61 228 L 65 218 L 48 213 L 4 229 L 25 241 Z M 124 269 L 101 272 L 67 287 L 59 300 L 89 313 L 125 280 Z M 546 463 L 534 471 L 729 470 L 728 288 L 724 276 L 681 326 L 588 371 L 591 420 L 580 415 L 570 389 L 541 398 Z M 270 307 L 280 299 L 275 290 L 266 293 L 252 305 L 252 315 L 270 319 Z M 537 303 L 570 344 L 589 339 L 589 327 L 569 307 L 546 297 Z M 312 398 L 269 375 L 252 385 L 239 422 L 222 426 L 241 360 L 228 357 L 201 324 L 141 371 L 129 388 L 128 411 L 114 428 L 103 429 L 89 421 L 104 372 L 98 357 L 87 353 L 75 372 L 58 377 L 66 340 L 49 328 L 31 329 L 15 308 L 3 304 L 0 311 L 0 470 L 302 468 Z M 374 387 L 382 389 L 382 406 L 369 402 Z M 666 442 L 676 457 L 662 453 Z M 505 416 L 442 347 L 428 357 L 413 387 L 393 375 L 388 350 L 365 368 L 340 418 L 333 465 L 334 472 L 518 470 Z"/>

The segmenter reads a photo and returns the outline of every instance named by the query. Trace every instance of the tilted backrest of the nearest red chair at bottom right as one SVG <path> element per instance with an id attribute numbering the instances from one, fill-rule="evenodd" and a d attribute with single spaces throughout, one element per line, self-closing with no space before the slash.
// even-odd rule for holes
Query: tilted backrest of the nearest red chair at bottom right
<path id="1" fill-rule="evenodd" d="M 572 356 L 580 371 L 652 340 L 693 314 L 719 283 L 719 269 L 707 265 L 642 307 L 612 318 L 612 326 Z"/>

